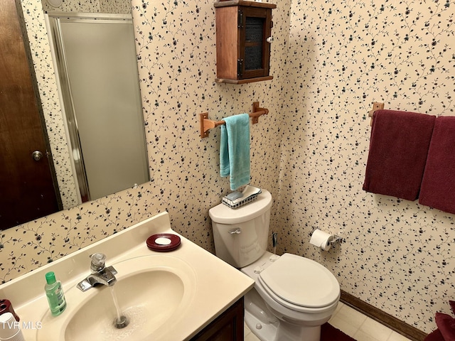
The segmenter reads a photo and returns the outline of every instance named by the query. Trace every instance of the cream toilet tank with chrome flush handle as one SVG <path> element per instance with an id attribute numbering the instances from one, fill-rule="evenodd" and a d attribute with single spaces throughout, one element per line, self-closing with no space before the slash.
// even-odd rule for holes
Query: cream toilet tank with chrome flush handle
<path id="1" fill-rule="evenodd" d="M 257 199 L 232 209 L 220 204 L 210 208 L 215 253 L 236 268 L 259 259 L 267 251 L 272 195 L 262 190 Z"/>

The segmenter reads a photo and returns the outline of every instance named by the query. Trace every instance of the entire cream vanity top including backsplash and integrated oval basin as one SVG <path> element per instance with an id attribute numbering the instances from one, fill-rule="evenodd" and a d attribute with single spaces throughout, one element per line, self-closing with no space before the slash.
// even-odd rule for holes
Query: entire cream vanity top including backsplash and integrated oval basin
<path id="1" fill-rule="evenodd" d="M 74 251 L 40 269 L 0 285 L 21 318 L 27 341 L 153 340 L 188 341 L 255 285 L 210 252 L 185 237 L 168 252 L 152 251 L 146 239 L 171 233 L 167 212 L 134 224 L 112 236 Z M 113 327 L 117 311 L 112 288 L 97 286 L 82 292 L 76 285 L 90 274 L 90 255 L 107 256 L 118 271 L 114 293 L 129 325 Z M 62 281 L 67 308 L 50 315 L 43 287 L 54 271 Z"/>

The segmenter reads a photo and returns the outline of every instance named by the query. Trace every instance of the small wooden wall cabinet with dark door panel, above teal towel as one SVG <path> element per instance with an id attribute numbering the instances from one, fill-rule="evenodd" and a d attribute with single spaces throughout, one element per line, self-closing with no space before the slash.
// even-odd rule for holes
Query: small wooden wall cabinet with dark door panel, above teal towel
<path id="1" fill-rule="evenodd" d="M 216 82 L 243 84 L 269 75 L 272 9 L 257 1 L 215 1 Z"/>

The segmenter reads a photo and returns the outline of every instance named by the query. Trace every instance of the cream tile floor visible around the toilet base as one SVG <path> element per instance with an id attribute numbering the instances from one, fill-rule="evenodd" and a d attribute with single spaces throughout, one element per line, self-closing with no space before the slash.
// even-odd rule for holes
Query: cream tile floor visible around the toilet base
<path id="1" fill-rule="evenodd" d="M 410 341 L 341 302 L 338 303 L 335 313 L 328 322 L 357 341 Z M 247 325 L 245 325 L 245 341 L 259 341 Z"/>

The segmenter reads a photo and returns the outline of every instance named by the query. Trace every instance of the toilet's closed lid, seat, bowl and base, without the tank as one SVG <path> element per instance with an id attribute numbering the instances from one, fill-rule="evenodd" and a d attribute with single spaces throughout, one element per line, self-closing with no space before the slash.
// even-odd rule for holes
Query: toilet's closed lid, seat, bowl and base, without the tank
<path id="1" fill-rule="evenodd" d="M 321 325 L 331 318 L 340 298 L 338 281 L 330 271 L 311 259 L 269 252 L 240 271 L 255 280 L 255 293 L 245 296 L 245 310 L 252 310 L 245 321 L 260 340 L 319 341 Z M 256 295 L 264 302 L 261 315 L 276 319 L 255 318 Z M 263 335 L 262 329 L 272 332 Z"/>

